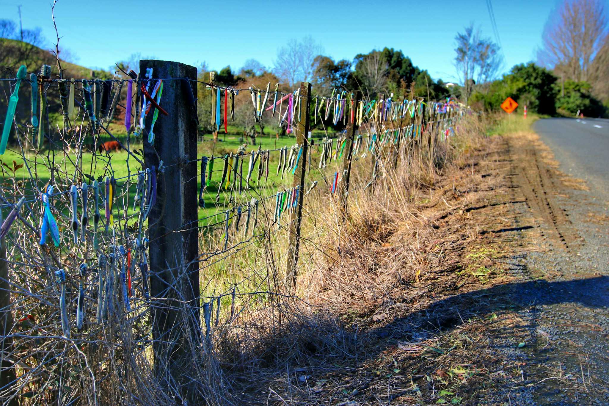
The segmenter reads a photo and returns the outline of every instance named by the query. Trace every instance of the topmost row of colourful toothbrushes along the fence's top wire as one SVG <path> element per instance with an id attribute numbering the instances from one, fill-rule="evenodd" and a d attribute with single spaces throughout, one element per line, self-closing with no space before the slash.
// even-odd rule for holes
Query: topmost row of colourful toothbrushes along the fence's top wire
<path id="1" fill-rule="evenodd" d="M 41 68 L 40 75 L 30 74 L 29 79 L 27 76 L 26 66 L 22 65 L 16 75 L 16 84 L 13 89 L 13 93 L 10 97 L 9 109 L 7 116 L 5 117 L 5 125 L 2 131 L 2 138 L 0 139 L 0 155 L 4 153 L 6 142 L 10 133 L 11 123 L 15 114 L 16 104 L 18 102 L 18 90 L 22 82 L 30 83 L 32 86 L 32 97 L 31 97 L 31 124 L 32 127 L 38 130 L 37 146 L 42 147 L 45 135 L 45 128 L 47 125 L 40 125 L 41 122 L 48 117 L 47 105 L 46 105 L 46 93 L 44 91 L 44 84 L 48 82 L 54 82 L 50 79 L 51 67 L 49 65 L 43 65 Z M 130 133 L 132 126 L 132 116 L 135 117 L 135 130 L 134 135 L 141 136 L 147 115 L 152 111 L 152 122 L 150 124 L 150 130 L 148 133 L 148 141 L 153 144 L 154 126 L 158 120 L 159 113 L 168 115 L 167 111 L 160 106 L 161 96 L 163 94 L 163 79 L 153 79 L 153 69 L 146 69 L 144 79 L 139 79 L 135 72 L 130 71 L 128 73 L 130 79 L 125 80 L 74 80 L 74 79 L 59 79 L 56 80 L 59 84 L 60 99 L 63 110 L 63 119 L 65 127 L 69 127 L 70 117 L 74 114 L 75 103 L 83 107 L 91 125 L 93 133 L 97 133 L 100 127 L 103 127 L 104 122 L 109 122 L 113 119 L 114 111 L 121 98 L 122 87 L 127 85 L 127 100 L 125 102 L 125 130 Z M 189 85 L 189 80 L 181 79 L 185 82 L 186 98 L 191 104 L 195 104 L 196 100 L 192 93 L 192 88 Z M 136 94 L 135 94 L 135 113 L 133 110 L 133 83 L 136 83 Z M 81 102 L 78 102 L 75 97 L 75 89 L 77 83 L 82 86 Z M 116 84 L 116 86 L 114 86 Z M 278 83 L 275 85 L 275 91 L 270 91 L 270 82 L 267 85 L 266 91 L 250 86 L 253 105 L 253 116 L 255 121 L 262 119 L 264 111 L 272 110 L 272 117 L 275 116 L 277 107 L 279 107 L 279 121 L 278 124 L 286 124 L 287 133 L 292 132 L 292 126 L 295 121 L 300 120 L 301 116 L 301 103 L 303 97 L 300 97 L 300 88 L 296 91 L 288 94 L 283 94 L 278 91 Z M 230 114 L 234 120 L 234 96 L 239 94 L 239 89 L 232 87 L 222 87 L 209 85 L 211 88 L 213 99 L 212 99 L 212 124 L 216 125 L 216 128 L 220 128 L 221 122 L 221 94 L 224 90 L 224 128 L 227 132 L 227 116 L 228 116 L 228 100 L 230 99 Z M 264 96 L 262 96 L 264 94 Z M 270 106 L 267 106 L 267 101 L 270 96 L 273 96 L 273 101 Z M 282 95 L 280 97 L 280 95 Z M 280 99 L 278 100 L 278 97 Z M 401 102 L 394 102 L 392 100 L 393 94 L 387 99 L 379 100 L 361 100 L 357 106 L 354 106 L 353 95 L 347 92 L 338 92 L 336 89 L 329 97 L 315 96 L 315 108 L 314 116 L 315 122 L 317 123 L 318 116 L 322 116 L 322 112 L 325 109 L 324 119 L 328 119 L 329 114 L 333 114 L 332 122 L 334 125 L 340 121 L 343 124 L 346 123 L 347 117 L 350 114 L 351 119 L 355 119 L 358 125 L 361 125 L 365 119 L 378 120 L 378 121 L 390 121 L 396 120 L 410 114 L 410 117 L 415 117 L 415 114 L 422 114 L 423 106 L 426 105 L 421 100 L 402 100 Z M 38 99 L 40 98 L 40 118 L 38 116 Z M 283 102 L 286 102 L 287 107 L 283 112 Z M 430 103 L 432 113 L 438 111 L 445 113 L 449 109 L 456 109 L 459 106 L 456 103 Z"/>

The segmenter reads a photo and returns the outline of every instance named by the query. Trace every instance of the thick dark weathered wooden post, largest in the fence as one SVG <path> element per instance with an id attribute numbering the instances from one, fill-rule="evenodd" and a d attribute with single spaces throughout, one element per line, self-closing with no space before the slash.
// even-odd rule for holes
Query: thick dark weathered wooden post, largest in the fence
<path id="1" fill-rule="evenodd" d="M 157 202 L 148 218 L 150 306 L 155 375 L 164 387 L 181 387 L 190 403 L 192 346 L 202 345 L 199 314 L 197 229 L 197 116 L 188 92 L 197 94 L 197 68 L 159 60 L 139 61 L 141 77 L 152 68 L 163 80 L 160 101 L 168 115 L 158 115 L 153 144 L 144 131 L 144 164 L 157 172 Z M 186 80 L 180 80 L 185 78 Z M 187 86 L 190 86 L 189 89 Z M 150 128 L 152 114 L 147 116 Z M 172 394 L 175 396 L 176 394 Z M 185 400 L 186 400 L 185 399 Z"/>

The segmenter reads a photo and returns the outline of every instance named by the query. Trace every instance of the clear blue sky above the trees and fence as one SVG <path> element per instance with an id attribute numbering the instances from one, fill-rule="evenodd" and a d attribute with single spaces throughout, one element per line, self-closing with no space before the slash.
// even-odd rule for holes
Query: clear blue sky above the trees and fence
<path id="1" fill-rule="evenodd" d="M 535 60 L 543 26 L 560 0 L 491 0 L 505 54 L 503 72 Z M 52 0 L 0 0 L 0 18 L 41 27 L 55 38 Z M 60 45 L 89 68 L 108 69 L 132 54 L 237 71 L 249 58 L 273 66 L 278 47 L 311 35 L 335 60 L 384 46 L 401 49 L 434 79 L 455 81 L 454 36 L 473 22 L 493 37 L 484 0 L 468 1 L 158 1 L 59 0 Z M 145 25 L 143 24 L 145 23 Z M 493 37 L 494 39 L 494 37 Z"/>

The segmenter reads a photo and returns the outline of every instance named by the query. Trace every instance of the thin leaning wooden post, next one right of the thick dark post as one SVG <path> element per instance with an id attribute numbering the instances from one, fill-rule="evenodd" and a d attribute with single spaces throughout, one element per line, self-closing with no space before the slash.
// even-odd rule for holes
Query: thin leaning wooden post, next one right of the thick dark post
<path id="1" fill-rule="evenodd" d="M 309 153 L 308 132 L 309 132 L 309 94 L 311 94 L 311 83 L 300 82 L 300 121 L 295 127 L 296 143 L 302 145 L 302 153 L 297 161 L 294 172 L 294 183 L 292 187 L 298 187 L 298 197 L 296 210 L 290 216 L 290 235 L 289 246 L 287 248 L 287 283 L 294 289 L 298 275 L 298 249 L 300 248 L 300 226 L 302 223 L 303 201 L 305 197 L 305 170 L 307 164 L 307 154 Z"/>

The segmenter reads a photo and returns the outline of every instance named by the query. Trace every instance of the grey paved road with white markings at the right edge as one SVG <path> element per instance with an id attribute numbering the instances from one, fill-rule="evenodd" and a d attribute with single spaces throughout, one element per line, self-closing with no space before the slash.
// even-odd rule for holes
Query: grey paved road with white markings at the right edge
<path id="1" fill-rule="evenodd" d="M 552 149 L 560 170 L 585 180 L 599 203 L 609 204 L 608 119 L 542 119 L 533 130 Z"/>

